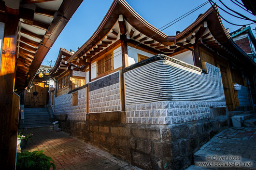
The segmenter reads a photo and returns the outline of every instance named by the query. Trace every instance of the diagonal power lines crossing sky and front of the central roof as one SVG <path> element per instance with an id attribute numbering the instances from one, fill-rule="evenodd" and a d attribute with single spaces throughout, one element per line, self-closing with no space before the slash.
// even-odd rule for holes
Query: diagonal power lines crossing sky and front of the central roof
<path id="1" fill-rule="evenodd" d="M 182 20 L 183 18 L 185 18 L 186 16 L 190 15 L 191 13 L 194 13 L 195 11 L 199 10 L 201 7 L 203 7 L 203 6 L 206 5 L 207 3 L 209 3 L 209 2 L 206 1 L 206 2 L 204 2 L 204 3 L 202 3 L 202 4 L 200 4 L 200 5 L 197 6 L 196 8 L 194 8 L 194 9 L 190 10 L 189 12 L 187 12 L 187 13 L 181 15 L 180 17 L 174 19 L 174 20 L 171 21 L 170 23 L 168 23 L 168 24 L 166 24 L 166 25 L 160 27 L 159 29 L 157 29 L 157 30 L 158 30 L 157 33 L 159 33 L 159 32 L 161 32 L 161 31 L 167 29 L 168 27 L 170 27 L 170 26 L 172 26 L 173 24 L 177 23 L 178 21 Z M 177 21 L 176 21 L 176 20 L 177 20 Z M 174 22 L 174 21 L 175 21 L 175 22 Z M 171 24 L 171 23 L 172 23 L 172 24 Z M 171 25 L 170 25 L 170 24 L 171 24 Z M 168 26 L 168 25 L 169 25 L 169 26 Z M 165 27 L 165 26 L 166 26 L 166 27 Z M 163 27 L 165 27 L 165 28 L 163 28 Z M 163 28 L 163 29 L 161 29 L 161 28 Z M 161 30 L 160 30 L 160 29 L 161 29 Z M 154 34 L 153 36 L 151 36 L 150 38 L 156 36 L 157 33 Z M 139 44 L 135 45 L 134 47 L 130 47 L 128 50 L 130 50 L 130 49 L 132 49 L 132 48 L 135 48 L 135 47 L 139 46 L 140 44 L 142 44 L 142 42 L 140 42 Z M 114 54 L 117 53 L 117 52 L 120 52 L 120 51 L 122 51 L 122 50 L 119 50 L 119 51 L 117 51 L 117 52 L 114 52 L 114 53 L 113 53 L 113 57 L 111 57 L 110 59 L 108 59 L 108 60 L 106 60 L 106 61 L 108 62 L 109 60 L 114 59 L 115 57 L 117 57 L 117 56 L 119 56 L 119 55 L 121 55 L 121 54 L 123 54 L 123 53 L 128 52 L 128 50 L 125 51 L 125 52 L 119 53 L 119 54 L 117 54 L 116 56 L 114 56 Z M 102 64 L 100 64 L 100 65 L 103 65 L 103 64 L 104 64 L 104 62 L 103 62 Z M 93 67 L 91 67 L 91 68 L 95 68 L 95 67 L 97 67 L 97 66 L 99 66 L 99 65 L 93 66 Z"/>

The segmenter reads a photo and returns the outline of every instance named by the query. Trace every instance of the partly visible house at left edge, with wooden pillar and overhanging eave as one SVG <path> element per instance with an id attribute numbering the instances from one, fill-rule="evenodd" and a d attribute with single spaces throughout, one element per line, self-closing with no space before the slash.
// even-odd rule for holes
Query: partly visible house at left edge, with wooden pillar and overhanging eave
<path id="1" fill-rule="evenodd" d="M 0 169 L 14 170 L 20 94 L 82 0 L 0 0 Z M 21 101 L 21 105 L 24 105 Z"/>

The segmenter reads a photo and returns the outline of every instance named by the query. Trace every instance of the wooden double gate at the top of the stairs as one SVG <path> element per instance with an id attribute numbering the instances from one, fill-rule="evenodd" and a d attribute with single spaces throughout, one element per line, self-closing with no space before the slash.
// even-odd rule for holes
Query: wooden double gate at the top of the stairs
<path id="1" fill-rule="evenodd" d="M 47 104 L 47 92 L 46 81 L 33 81 L 30 92 L 26 92 L 25 107 L 44 107 Z"/>

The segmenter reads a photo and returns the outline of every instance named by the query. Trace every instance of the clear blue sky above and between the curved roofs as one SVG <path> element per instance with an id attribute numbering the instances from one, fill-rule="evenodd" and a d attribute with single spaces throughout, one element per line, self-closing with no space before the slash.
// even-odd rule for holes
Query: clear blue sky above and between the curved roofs
<path id="1" fill-rule="evenodd" d="M 156 28 L 166 25 L 205 1 L 207 0 L 127 0 L 128 4 L 137 13 Z M 216 0 L 213 1 L 216 2 Z M 246 11 L 243 11 L 241 8 L 233 4 L 230 0 L 222 1 L 237 12 L 246 14 L 246 16 L 250 16 L 256 20 L 253 15 L 249 15 Z M 54 45 L 46 55 L 42 65 L 49 64 L 46 60 L 55 61 L 60 47 L 69 51 L 70 49 L 76 51 L 78 47 L 81 47 L 98 28 L 112 2 L 113 0 L 84 0 L 73 14 L 69 23 L 58 36 Z M 221 5 L 219 1 L 217 1 L 217 4 Z M 210 6 L 210 3 L 206 4 L 198 11 L 188 15 L 181 21 L 163 30 L 163 32 L 167 35 L 175 35 L 177 30 L 182 31 L 185 29 L 196 20 L 200 13 L 204 13 L 208 8 L 210 8 Z M 221 10 L 219 11 L 220 14 L 230 22 L 240 25 L 250 23 L 249 21 L 244 21 L 230 16 Z M 226 28 L 229 28 L 230 32 L 241 27 L 233 26 L 225 21 L 223 21 L 223 24 Z M 253 24 L 251 27 L 252 29 L 255 29 L 256 25 Z M 253 33 L 255 33 L 255 31 L 253 31 Z M 55 62 L 53 62 L 53 64 L 54 63 Z"/>

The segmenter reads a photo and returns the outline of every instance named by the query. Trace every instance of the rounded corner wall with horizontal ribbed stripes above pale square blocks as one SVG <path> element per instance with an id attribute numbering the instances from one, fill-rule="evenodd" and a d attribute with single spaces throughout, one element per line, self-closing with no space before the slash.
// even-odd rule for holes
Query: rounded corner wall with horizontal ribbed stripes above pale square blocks
<path id="1" fill-rule="evenodd" d="M 210 106 L 226 107 L 220 70 L 185 65 L 169 58 L 125 72 L 127 122 L 181 123 L 210 118 Z"/>

